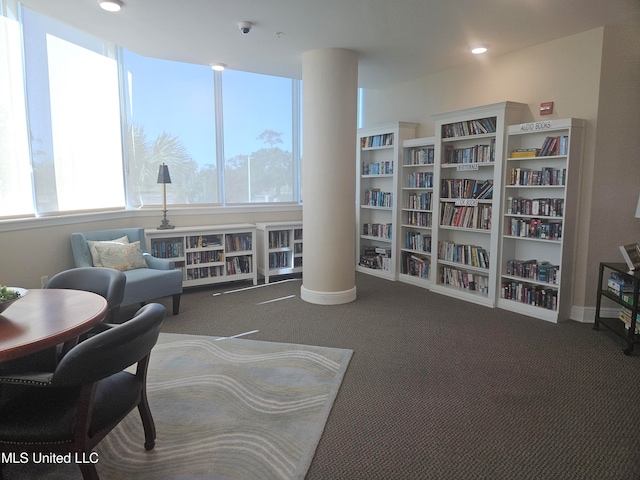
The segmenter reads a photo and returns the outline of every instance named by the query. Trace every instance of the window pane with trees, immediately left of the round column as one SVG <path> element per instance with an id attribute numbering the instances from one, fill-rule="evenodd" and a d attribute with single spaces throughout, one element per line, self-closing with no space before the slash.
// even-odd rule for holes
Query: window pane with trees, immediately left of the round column
<path id="1" fill-rule="evenodd" d="M 297 201 L 297 81 L 229 70 L 222 80 L 226 202 Z"/>

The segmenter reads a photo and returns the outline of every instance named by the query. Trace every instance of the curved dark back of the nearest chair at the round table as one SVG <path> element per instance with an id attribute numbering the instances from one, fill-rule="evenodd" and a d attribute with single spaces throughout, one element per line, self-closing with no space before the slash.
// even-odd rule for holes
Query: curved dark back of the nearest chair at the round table
<path id="1" fill-rule="evenodd" d="M 158 340 L 166 309 L 159 303 L 73 347 L 51 376 L 52 386 L 86 385 L 118 373 L 146 357 Z"/>

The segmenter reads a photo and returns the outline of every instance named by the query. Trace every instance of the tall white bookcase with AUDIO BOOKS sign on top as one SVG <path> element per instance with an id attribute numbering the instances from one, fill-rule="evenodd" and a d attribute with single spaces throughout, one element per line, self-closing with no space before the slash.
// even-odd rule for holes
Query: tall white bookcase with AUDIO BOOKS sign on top
<path id="1" fill-rule="evenodd" d="M 568 319 L 584 121 L 507 128 L 498 307 Z"/>

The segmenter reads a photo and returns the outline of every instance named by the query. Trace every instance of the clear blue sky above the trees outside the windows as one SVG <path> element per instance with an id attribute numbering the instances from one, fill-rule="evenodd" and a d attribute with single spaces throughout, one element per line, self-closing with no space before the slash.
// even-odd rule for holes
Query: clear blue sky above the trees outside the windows
<path id="1" fill-rule="evenodd" d="M 124 51 L 131 75 L 133 119 L 148 140 L 176 135 L 200 165 L 215 163 L 213 71 L 208 66 L 157 60 Z M 291 151 L 291 80 L 232 70 L 222 73 L 226 158 L 248 155 L 265 145 L 266 129 L 282 133 L 280 148 Z"/>

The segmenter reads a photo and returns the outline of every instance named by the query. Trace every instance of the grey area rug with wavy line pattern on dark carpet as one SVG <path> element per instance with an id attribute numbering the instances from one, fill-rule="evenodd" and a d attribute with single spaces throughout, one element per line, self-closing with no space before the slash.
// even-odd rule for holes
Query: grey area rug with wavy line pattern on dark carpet
<path id="1" fill-rule="evenodd" d="M 161 334 L 147 385 L 156 446 L 144 449 L 133 411 L 96 448 L 101 480 L 303 479 L 352 353 Z M 76 465 L 17 470 L 15 478 L 80 478 Z"/>

